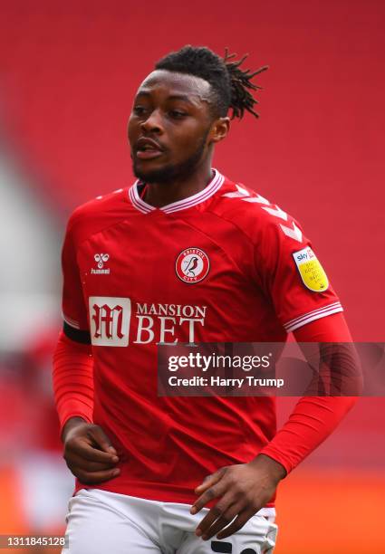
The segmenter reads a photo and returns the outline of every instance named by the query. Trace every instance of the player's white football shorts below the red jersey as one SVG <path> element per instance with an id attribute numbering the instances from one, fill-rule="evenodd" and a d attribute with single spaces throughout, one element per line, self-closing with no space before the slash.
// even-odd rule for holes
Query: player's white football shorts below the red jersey
<path id="1" fill-rule="evenodd" d="M 100 489 L 77 492 L 69 501 L 62 554 L 271 554 L 277 526 L 274 509 L 255 514 L 231 537 L 202 540 L 195 535 L 204 508 L 149 501 Z"/>

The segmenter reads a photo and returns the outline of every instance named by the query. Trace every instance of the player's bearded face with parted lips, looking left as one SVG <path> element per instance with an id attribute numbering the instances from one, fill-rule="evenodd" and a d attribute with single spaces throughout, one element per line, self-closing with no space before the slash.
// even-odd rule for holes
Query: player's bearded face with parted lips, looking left
<path id="1" fill-rule="evenodd" d="M 228 118 L 214 119 L 210 84 L 158 70 L 140 85 L 129 120 L 133 171 L 147 183 L 189 177 L 225 138 Z"/>

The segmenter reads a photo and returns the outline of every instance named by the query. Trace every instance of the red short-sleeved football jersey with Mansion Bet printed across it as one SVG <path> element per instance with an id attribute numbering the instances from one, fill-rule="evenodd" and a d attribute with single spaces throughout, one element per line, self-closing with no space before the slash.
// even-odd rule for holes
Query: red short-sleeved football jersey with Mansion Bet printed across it
<path id="1" fill-rule="evenodd" d="M 120 475 L 97 488 L 191 503 L 208 473 L 273 438 L 274 398 L 158 396 L 157 343 L 284 341 L 342 307 L 300 225 L 263 196 L 217 170 L 161 208 L 142 187 L 73 213 L 64 330 L 91 340 L 93 421 L 120 456 Z"/>

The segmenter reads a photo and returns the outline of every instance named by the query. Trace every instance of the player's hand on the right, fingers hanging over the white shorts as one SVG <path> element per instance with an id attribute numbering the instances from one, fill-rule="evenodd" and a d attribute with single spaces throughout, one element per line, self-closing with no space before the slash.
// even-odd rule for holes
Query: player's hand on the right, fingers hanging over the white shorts
<path id="1" fill-rule="evenodd" d="M 196 535 L 203 540 L 217 535 L 220 540 L 240 530 L 272 498 L 285 474 L 281 463 L 260 454 L 252 462 L 228 465 L 208 475 L 195 489 L 200 496 L 190 513 L 197 513 L 208 501 L 220 500 L 199 523 Z"/>

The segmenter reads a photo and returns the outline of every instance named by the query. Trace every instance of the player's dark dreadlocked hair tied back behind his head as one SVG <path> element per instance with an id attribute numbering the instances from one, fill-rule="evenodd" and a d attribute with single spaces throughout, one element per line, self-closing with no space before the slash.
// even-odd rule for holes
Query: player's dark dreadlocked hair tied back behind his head
<path id="1" fill-rule="evenodd" d="M 267 65 L 260 67 L 255 72 L 243 70 L 241 64 L 245 62 L 248 54 L 236 61 L 236 53 L 228 53 L 220 58 L 216 53 L 205 46 L 184 46 L 178 52 L 169 53 L 155 64 L 157 70 L 169 72 L 188 73 L 195 75 L 211 85 L 213 115 L 226 117 L 228 110 L 232 110 L 231 119 L 242 119 L 245 111 L 252 113 L 255 118 L 259 114 L 254 110 L 255 100 L 250 91 L 262 90 L 262 87 L 251 82 L 258 73 L 265 72 Z"/>

